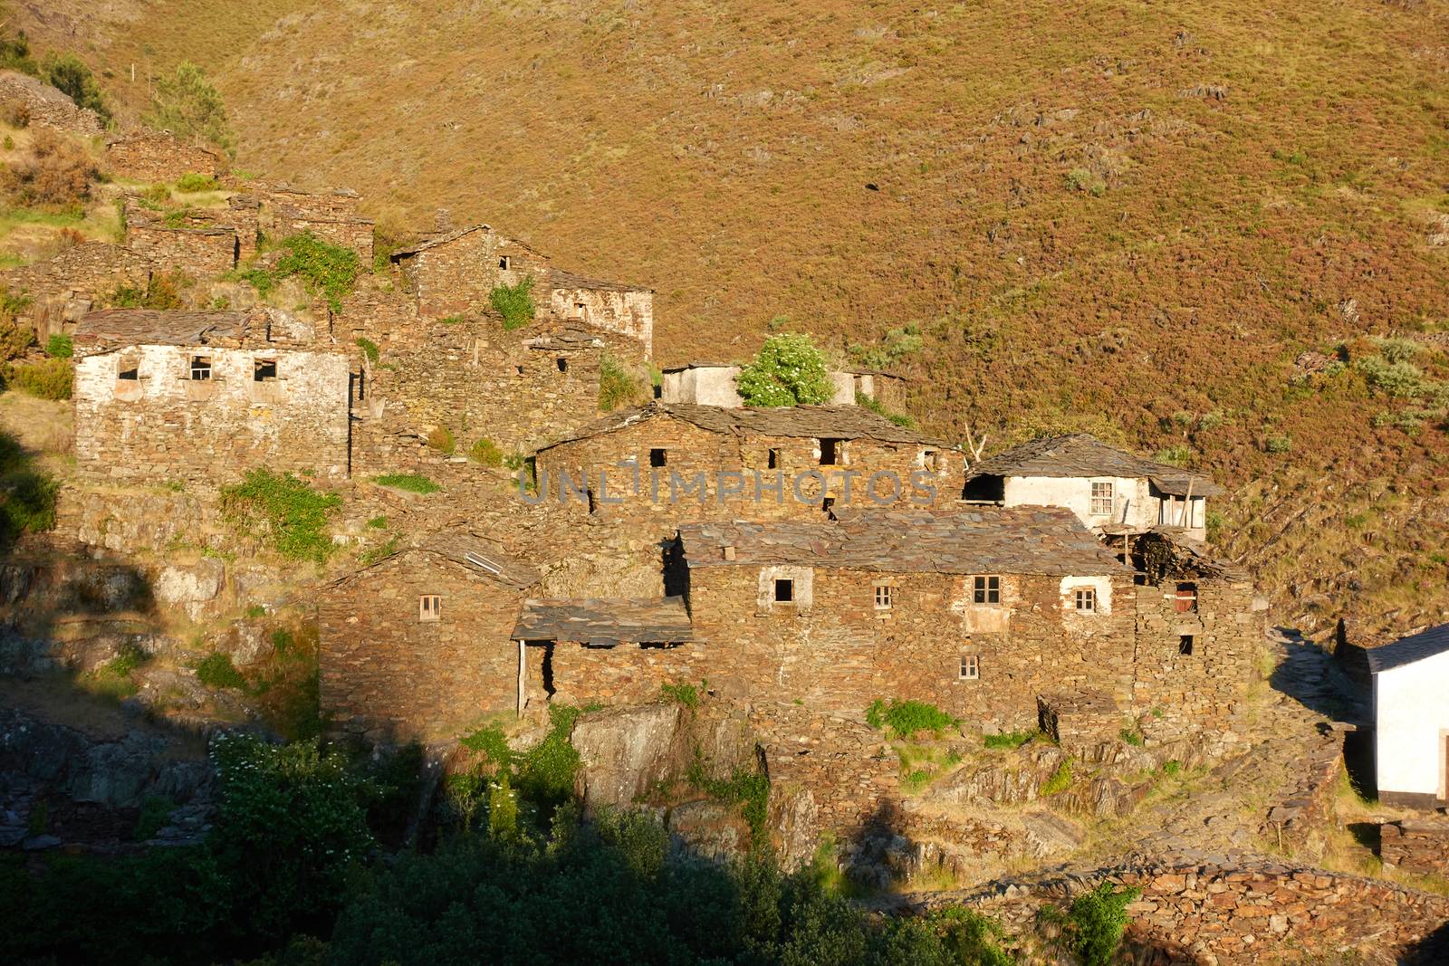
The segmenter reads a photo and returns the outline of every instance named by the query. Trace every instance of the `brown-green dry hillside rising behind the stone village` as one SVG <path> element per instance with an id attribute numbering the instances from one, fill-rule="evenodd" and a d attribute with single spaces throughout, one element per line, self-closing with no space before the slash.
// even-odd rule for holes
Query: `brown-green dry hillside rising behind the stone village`
<path id="1" fill-rule="evenodd" d="M 123 114 L 207 64 L 241 168 L 652 284 L 667 362 L 788 326 L 942 434 L 1106 426 L 1240 488 L 1282 620 L 1449 620 L 1445 0 L 17 7 Z"/>

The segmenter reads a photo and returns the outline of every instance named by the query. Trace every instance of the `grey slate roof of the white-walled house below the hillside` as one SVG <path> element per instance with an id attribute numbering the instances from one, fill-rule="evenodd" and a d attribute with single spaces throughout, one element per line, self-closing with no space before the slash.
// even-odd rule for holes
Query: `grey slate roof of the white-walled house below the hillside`
<path id="1" fill-rule="evenodd" d="M 971 476 L 1146 476 L 1165 494 L 1181 497 L 1193 485 L 1195 497 L 1217 497 L 1223 488 L 1203 474 L 1152 462 L 1108 446 L 1088 433 L 1046 436 L 982 459 Z"/>

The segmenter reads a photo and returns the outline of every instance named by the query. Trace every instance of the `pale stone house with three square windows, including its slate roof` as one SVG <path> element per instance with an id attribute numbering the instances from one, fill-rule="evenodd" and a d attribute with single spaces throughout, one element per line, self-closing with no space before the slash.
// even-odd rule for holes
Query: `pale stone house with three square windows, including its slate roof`
<path id="1" fill-rule="evenodd" d="M 348 358 L 265 310 L 93 311 L 77 326 L 75 459 L 116 481 L 348 474 Z"/>

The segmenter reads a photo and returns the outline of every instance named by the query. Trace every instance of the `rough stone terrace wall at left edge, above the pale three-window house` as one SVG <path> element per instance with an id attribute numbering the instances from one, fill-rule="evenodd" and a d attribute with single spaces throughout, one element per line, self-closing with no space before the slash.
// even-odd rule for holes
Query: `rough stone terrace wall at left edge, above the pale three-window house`
<path id="1" fill-rule="evenodd" d="M 43 262 L 0 272 L 0 285 L 30 297 L 17 319 L 32 324 L 42 343 L 74 327 L 117 288 L 145 288 L 149 281 L 151 259 L 106 242 L 81 242 Z"/>

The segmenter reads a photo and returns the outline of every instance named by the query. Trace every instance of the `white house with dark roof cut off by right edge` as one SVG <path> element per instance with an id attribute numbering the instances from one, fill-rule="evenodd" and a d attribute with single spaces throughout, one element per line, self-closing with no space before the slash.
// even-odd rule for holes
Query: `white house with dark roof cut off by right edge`
<path id="1" fill-rule="evenodd" d="M 1449 802 L 1449 624 L 1371 647 L 1374 770 L 1385 805 Z"/>

